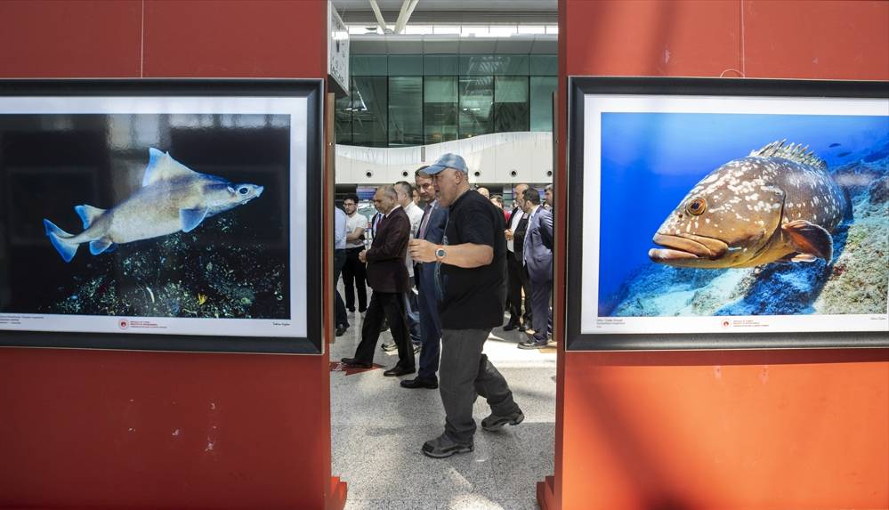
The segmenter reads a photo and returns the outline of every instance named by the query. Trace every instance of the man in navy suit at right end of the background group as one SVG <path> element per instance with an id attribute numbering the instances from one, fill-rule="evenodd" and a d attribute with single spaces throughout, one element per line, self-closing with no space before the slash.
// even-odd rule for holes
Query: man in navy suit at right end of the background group
<path id="1" fill-rule="evenodd" d="M 521 342 L 519 349 L 546 347 L 553 312 L 549 298 L 553 292 L 553 213 L 540 206 L 540 192 L 524 190 L 524 212 L 528 215 L 523 258 L 531 281 L 531 321 L 534 336 Z"/>

